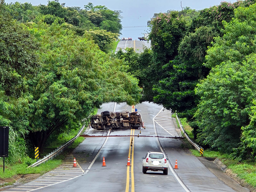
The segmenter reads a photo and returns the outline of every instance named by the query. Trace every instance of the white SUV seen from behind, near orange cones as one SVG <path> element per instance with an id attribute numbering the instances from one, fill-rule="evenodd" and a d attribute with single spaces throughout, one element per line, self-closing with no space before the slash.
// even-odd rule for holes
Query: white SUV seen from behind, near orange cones
<path id="1" fill-rule="evenodd" d="M 144 174 L 150 171 L 163 171 L 164 175 L 168 175 L 168 158 L 164 153 L 148 152 L 145 157 L 142 157 L 142 172 Z"/>

